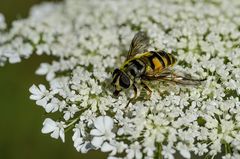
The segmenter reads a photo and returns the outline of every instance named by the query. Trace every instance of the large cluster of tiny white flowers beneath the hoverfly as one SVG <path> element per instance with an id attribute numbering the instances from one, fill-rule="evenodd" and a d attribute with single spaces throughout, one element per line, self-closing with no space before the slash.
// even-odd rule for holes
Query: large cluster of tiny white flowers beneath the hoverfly
<path id="1" fill-rule="evenodd" d="M 47 113 L 42 133 L 73 131 L 74 147 L 109 158 L 240 158 L 239 0 L 65 0 L 33 7 L 7 32 L 0 15 L 0 65 L 31 54 L 55 56 L 36 71 L 32 100 Z M 176 71 L 206 78 L 203 85 L 152 82 L 150 100 L 128 106 L 114 98 L 111 72 L 126 57 L 133 35 L 146 31 L 152 50 L 178 58 Z"/>

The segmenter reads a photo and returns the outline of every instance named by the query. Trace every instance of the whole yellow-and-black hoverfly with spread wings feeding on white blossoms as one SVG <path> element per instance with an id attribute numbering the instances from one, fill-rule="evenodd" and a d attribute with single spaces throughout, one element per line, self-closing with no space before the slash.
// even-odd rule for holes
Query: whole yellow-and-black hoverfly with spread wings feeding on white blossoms
<path id="1" fill-rule="evenodd" d="M 164 80 L 183 85 L 197 85 L 203 80 L 192 79 L 189 75 L 177 75 L 171 69 L 176 58 L 163 50 L 148 51 L 149 38 L 145 32 L 138 32 L 132 39 L 127 59 L 120 68 L 113 72 L 112 84 L 114 95 L 118 96 L 123 89 L 133 87 L 134 97 L 137 97 L 136 84 L 140 83 L 151 96 L 151 89 L 146 81 Z"/>

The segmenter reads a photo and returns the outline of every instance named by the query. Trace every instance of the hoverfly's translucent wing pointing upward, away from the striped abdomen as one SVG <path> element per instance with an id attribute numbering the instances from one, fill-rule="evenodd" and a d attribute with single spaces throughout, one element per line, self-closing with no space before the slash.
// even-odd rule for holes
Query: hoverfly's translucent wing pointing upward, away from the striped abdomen
<path id="1" fill-rule="evenodd" d="M 145 32 L 138 32 L 132 39 L 127 60 L 139 53 L 144 53 L 149 47 L 149 38 Z"/>

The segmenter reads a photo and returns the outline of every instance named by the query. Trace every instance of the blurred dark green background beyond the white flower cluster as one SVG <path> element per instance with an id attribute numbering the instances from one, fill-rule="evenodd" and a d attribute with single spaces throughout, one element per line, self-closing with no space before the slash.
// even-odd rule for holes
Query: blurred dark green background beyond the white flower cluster
<path id="1" fill-rule="evenodd" d="M 0 12 L 10 25 L 14 19 L 26 18 L 30 7 L 43 1 L 0 0 Z M 0 159 L 106 158 L 96 151 L 77 152 L 70 134 L 62 143 L 41 133 L 44 111 L 29 99 L 28 89 L 33 83 L 46 83 L 44 77 L 34 73 L 46 61 L 49 57 L 32 56 L 19 64 L 0 67 Z"/>

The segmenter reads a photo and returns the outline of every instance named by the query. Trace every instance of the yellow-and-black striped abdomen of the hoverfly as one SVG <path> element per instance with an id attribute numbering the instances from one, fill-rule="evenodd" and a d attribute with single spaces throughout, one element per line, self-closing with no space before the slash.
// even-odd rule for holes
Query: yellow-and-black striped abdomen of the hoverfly
<path id="1" fill-rule="evenodd" d="M 148 61 L 146 74 L 158 73 L 167 67 L 171 67 L 176 63 L 176 58 L 165 51 L 150 51 L 147 57 L 142 57 Z"/>

